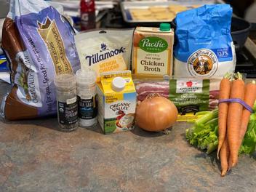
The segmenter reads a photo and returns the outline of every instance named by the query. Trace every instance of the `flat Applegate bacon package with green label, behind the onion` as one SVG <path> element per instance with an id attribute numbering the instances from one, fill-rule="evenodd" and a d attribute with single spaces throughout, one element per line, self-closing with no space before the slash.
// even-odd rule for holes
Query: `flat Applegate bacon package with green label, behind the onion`
<path id="1" fill-rule="evenodd" d="M 217 108 L 220 79 L 145 79 L 135 80 L 137 102 L 156 93 L 171 100 L 179 111 L 178 121 L 196 118 L 199 111 Z"/>

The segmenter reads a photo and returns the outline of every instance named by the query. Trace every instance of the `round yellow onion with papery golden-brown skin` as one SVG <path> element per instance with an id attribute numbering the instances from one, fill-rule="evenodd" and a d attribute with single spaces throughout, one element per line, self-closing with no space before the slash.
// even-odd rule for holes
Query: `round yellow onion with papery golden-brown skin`
<path id="1" fill-rule="evenodd" d="M 164 131 L 175 124 L 177 113 L 172 101 L 159 95 L 148 95 L 137 106 L 136 124 L 149 132 Z"/>

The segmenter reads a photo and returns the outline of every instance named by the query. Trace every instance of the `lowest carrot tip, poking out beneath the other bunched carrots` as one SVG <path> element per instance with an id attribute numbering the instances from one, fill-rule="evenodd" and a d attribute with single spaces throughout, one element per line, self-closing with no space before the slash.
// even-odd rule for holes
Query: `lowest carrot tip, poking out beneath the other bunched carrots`
<path id="1" fill-rule="evenodd" d="M 229 147 L 228 147 L 228 138 L 225 137 L 223 145 L 220 149 L 220 164 L 221 164 L 221 176 L 225 176 L 228 172 L 228 156 L 229 156 Z"/>

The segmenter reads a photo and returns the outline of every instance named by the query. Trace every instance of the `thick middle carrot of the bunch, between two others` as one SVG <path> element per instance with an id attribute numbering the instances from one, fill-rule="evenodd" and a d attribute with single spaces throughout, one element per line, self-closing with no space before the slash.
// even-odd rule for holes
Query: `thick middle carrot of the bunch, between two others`
<path id="1" fill-rule="evenodd" d="M 238 73 L 238 79 L 233 81 L 231 85 L 231 98 L 244 100 L 244 81 L 241 74 Z M 239 129 L 241 125 L 241 114 L 243 112 L 243 105 L 240 103 L 230 103 L 228 105 L 228 120 L 227 120 L 227 133 L 228 133 L 228 146 L 230 148 L 231 164 L 228 165 L 229 169 L 234 167 L 238 161 L 239 155 Z"/>

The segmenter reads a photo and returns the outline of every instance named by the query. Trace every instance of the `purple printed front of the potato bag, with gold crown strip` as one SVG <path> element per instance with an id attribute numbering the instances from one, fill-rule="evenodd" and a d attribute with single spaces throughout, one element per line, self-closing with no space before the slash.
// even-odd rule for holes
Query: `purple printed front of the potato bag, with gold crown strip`
<path id="1" fill-rule="evenodd" d="M 17 96 L 35 106 L 39 116 L 56 114 L 55 74 L 75 73 L 80 68 L 73 28 L 53 7 L 15 17 L 15 25 L 26 49 L 17 55 L 17 60 L 25 64 L 25 70 L 23 67 L 20 71 L 28 82 L 23 87 L 17 76 Z"/>

